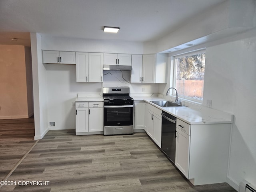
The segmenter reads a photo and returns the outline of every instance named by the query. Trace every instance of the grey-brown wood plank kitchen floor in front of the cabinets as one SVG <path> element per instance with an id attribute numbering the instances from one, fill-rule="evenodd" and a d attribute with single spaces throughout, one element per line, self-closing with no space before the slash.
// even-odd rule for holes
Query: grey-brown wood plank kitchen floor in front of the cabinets
<path id="1" fill-rule="evenodd" d="M 146 133 L 76 136 L 75 130 L 50 130 L 8 181 L 49 184 L 2 186 L 0 191 L 236 192 L 226 183 L 192 186 Z"/>

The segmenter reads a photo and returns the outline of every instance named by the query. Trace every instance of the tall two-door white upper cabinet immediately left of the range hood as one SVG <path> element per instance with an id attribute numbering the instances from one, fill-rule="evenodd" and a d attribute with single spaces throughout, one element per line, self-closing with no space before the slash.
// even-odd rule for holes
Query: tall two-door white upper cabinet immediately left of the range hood
<path id="1" fill-rule="evenodd" d="M 76 52 L 76 82 L 103 81 L 103 54 Z"/>

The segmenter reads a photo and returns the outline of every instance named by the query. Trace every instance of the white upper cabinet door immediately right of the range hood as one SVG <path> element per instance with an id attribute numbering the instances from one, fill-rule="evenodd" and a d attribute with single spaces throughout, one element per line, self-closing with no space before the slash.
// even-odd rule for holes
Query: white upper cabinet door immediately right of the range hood
<path id="1" fill-rule="evenodd" d="M 142 55 L 132 55 L 131 83 L 142 82 Z"/>

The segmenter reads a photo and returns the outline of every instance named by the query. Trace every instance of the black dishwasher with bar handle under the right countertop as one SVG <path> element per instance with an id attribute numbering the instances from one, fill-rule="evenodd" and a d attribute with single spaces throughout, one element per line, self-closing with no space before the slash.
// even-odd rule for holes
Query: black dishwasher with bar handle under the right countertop
<path id="1" fill-rule="evenodd" d="M 175 164 L 176 148 L 176 117 L 162 111 L 162 141 L 161 149 Z"/>

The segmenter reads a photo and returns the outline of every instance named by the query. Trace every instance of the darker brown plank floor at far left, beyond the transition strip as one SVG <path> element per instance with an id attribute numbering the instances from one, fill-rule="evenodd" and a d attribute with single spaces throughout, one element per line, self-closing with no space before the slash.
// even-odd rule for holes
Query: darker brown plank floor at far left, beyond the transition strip
<path id="1" fill-rule="evenodd" d="M 0 120 L 0 180 L 26 154 L 34 141 L 34 118 Z"/>

